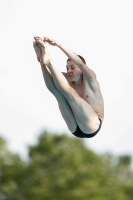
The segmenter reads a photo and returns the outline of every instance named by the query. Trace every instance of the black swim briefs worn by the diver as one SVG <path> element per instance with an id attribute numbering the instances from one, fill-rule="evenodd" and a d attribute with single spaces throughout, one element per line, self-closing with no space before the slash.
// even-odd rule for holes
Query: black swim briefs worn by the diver
<path id="1" fill-rule="evenodd" d="M 101 126 L 102 126 L 102 120 L 99 118 L 100 120 L 100 125 L 99 125 L 99 128 L 97 129 L 97 131 L 95 131 L 94 133 L 91 133 L 91 134 L 86 134 L 86 133 L 83 133 L 79 126 L 77 125 L 77 129 L 76 131 L 73 133 L 73 135 L 75 135 L 76 137 L 79 137 L 79 138 L 91 138 L 91 137 L 94 137 L 101 129 Z"/>

